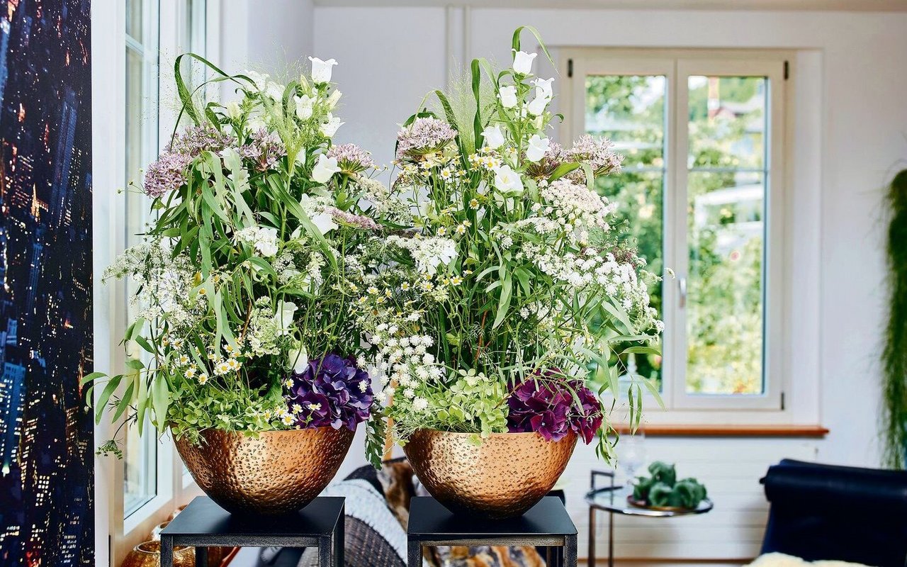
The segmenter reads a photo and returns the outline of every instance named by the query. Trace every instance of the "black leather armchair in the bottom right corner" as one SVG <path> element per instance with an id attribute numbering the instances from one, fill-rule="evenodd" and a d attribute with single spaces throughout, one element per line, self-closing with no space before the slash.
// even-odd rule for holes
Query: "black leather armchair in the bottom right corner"
<path id="1" fill-rule="evenodd" d="M 907 565 L 907 472 L 785 459 L 761 482 L 771 503 L 763 553 Z"/>

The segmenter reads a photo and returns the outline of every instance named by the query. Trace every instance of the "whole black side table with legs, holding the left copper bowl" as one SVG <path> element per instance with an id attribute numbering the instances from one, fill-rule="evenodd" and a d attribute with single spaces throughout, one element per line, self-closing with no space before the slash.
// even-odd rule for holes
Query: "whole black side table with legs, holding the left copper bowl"
<path id="1" fill-rule="evenodd" d="M 161 531 L 161 567 L 173 567 L 173 546 L 195 547 L 196 567 L 207 567 L 209 546 L 317 547 L 319 567 L 343 563 L 344 498 L 319 496 L 279 517 L 232 515 L 199 496 Z M 333 562 L 331 561 L 333 555 Z"/>

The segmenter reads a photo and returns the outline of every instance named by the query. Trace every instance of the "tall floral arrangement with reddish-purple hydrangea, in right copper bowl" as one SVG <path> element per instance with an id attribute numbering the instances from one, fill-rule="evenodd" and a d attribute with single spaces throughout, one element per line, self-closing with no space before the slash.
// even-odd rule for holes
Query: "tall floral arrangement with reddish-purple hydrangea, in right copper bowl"
<path id="1" fill-rule="evenodd" d="M 387 399 L 375 421 L 386 418 L 400 444 L 420 428 L 477 441 L 598 435 L 607 457 L 605 411 L 587 378 L 591 369 L 598 394 L 616 392 L 610 349 L 629 341 L 631 352 L 654 352 L 662 324 L 646 280 L 656 276 L 614 226 L 617 204 L 594 191 L 619 171 L 612 144 L 549 139 L 554 79 L 532 73 L 522 29 L 511 68 L 473 61 L 465 88 L 435 92 L 435 111 L 397 135 L 395 180 L 375 195 L 396 230 L 357 299 Z M 637 423 L 640 384 L 654 392 L 631 384 Z M 373 462 L 381 441 L 368 441 Z"/>

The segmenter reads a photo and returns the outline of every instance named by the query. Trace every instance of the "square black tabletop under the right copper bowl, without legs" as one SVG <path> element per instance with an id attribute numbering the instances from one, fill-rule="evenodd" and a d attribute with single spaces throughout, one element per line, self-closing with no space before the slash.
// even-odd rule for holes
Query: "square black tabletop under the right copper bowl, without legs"
<path id="1" fill-rule="evenodd" d="M 169 526 L 168 526 L 169 527 Z M 576 526 L 557 496 L 545 496 L 518 518 L 487 520 L 456 515 L 427 496 L 413 498 L 409 537 L 416 540 L 575 535 Z"/>

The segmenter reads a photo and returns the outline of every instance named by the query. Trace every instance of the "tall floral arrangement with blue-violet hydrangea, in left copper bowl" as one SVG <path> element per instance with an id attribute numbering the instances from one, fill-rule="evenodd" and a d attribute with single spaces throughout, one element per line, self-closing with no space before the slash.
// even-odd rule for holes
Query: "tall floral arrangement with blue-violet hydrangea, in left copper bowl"
<path id="1" fill-rule="evenodd" d="M 107 380 L 97 418 L 110 406 L 114 421 L 195 442 L 207 428 L 355 429 L 372 390 L 352 307 L 380 261 L 364 207 L 387 190 L 367 152 L 332 143 L 336 62 L 310 58 L 308 76 L 277 83 L 188 55 L 238 100 L 199 100 L 177 74 L 190 124 L 129 188 L 155 217 L 104 273 L 135 282 L 139 316 L 123 341 L 129 370 Z"/>

